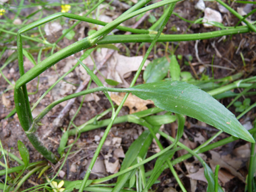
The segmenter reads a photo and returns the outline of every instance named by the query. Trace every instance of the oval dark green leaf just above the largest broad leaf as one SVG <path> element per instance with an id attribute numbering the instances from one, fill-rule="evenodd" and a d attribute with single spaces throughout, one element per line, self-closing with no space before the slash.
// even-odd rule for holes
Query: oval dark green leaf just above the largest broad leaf
<path id="1" fill-rule="evenodd" d="M 143 80 L 146 83 L 159 82 L 168 73 L 170 63 L 166 57 L 160 59 L 154 59 L 151 61 L 143 72 Z"/>

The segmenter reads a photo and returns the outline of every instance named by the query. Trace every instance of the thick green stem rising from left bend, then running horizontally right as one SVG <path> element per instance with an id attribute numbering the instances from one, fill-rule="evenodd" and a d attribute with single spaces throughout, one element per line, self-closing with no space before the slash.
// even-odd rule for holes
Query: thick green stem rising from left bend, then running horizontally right
<path id="1" fill-rule="evenodd" d="M 206 38 L 214 38 L 218 36 L 245 33 L 245 32 L 249 32 L 249 28 L 243 26 L 243 27 L 238 27 L 230 30 L 220 30 L 216 32 L 207 32 L 202 34 L 161 35 L 158 38 L 158 42 L 206 39 Z M 97 44 L 111 44 L 116 42 L 152 42 L 155 36 L 156 34 L 105 36 L 103 39 L 99 40 Z M 90 42 L 88 42 L 88 39 L 85 38 L 83 40 L 79 40 L 74 44 L 71 44 L 65 47 L 61 51 L 46 58 L 41 63 L 38 63 L 38 65 L 30 69 L 30 71 L 28 71 L 23 77 L 18 79 L 18 81 L 16 82 L 16 88 L 30 82 L 30 80 L 37 77 L 37 75 L 39 75 L 49 67 L 53 66 L 55 63 L 57 63 L 61 59 L 64 59 L 69 55 L 73 55 L 78 51 L 82 51 L 83 49 L 87 49 L 90 46 L 92 46 L 92 44 L 90 44 Z M 38 71 L 39 69 L 40 71 Z"/>

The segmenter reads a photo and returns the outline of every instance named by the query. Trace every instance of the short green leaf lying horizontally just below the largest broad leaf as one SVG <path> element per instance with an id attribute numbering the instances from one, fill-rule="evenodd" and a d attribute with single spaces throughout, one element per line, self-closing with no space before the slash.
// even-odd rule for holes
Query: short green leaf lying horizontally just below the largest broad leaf
<path id="1" fill-rule="evenodd" d="M 156 126 L 172 123 L 176 121 L 177 117 L 174 115 L 151 115 L 148 117 L 144 117 L 143 119 L 148 121 L 148 123 L 150 123 L 151 125 Z"/>

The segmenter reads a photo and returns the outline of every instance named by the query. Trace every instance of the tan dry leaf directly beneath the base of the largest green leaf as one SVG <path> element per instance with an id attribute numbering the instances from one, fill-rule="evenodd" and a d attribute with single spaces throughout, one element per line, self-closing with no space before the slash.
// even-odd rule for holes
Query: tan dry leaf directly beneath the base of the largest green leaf
<path id="1" fill-rule="evenodd" d="M 119 94 L 110 94 L 111 100 L 113 100 L 116 104 L 120 104 L 123 100 L 123 97 L 125 96 L 125 93 L 119 93 Z M 139 112 L 141 110 L 146 110 L 148 107 L 147 104 L 154 104 L 152 100 L 142 100 L 141 98 L 138 98 L 137 96 L 133 96 L 132 94 L 129 94 L 127 100 L 125 101 L 124 106 L 128 106 L 130 109 L 130 114 Z"/>

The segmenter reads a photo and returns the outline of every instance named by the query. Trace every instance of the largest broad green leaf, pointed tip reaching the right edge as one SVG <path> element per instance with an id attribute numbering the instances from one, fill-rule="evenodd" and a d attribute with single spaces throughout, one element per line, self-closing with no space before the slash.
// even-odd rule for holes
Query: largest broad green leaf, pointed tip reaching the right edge
<path id="1" fill-rule="evenodd" d="M 225 106 L 196 86 L 186 82 L 157 82 L 127 90 L 143 100 L 153 100 L 159 108 L 193 117 L 234 137 L 255 143 L 251 134 Z"/>

